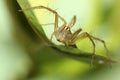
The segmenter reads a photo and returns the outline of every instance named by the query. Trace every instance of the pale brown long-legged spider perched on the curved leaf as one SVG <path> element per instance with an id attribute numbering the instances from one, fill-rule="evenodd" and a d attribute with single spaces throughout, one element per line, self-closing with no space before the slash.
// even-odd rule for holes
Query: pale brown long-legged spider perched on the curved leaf
<path id="1" fill-rule="evenodd" d="M 66 20 L 63 17 L 61 17 L 55 10 L 53 10 L 51 8 L 48 8 L 45 6 L 35 6 L 35 7 L 28 8 L 28 9 L 45 9 L 55 15 L 54 32 L 51 35 L 51 40 L 52 40 L 53 36 L 55 36 L 56 40 L 59 42 L 62 42 L 63 44 L 65 44 L 65 46 L 74 46 L 76 41 L 78 41 L 80 39 L 84 39 L 84 38 L 89 38 L 89 40 L 91 41 L 91 43 L 93 45 L 93 54 L 95 54 L 94 40 L 97 40 L 97 41 L 103 43 L 105 49 L 107 50 L 104 40 L 94 37 L 87 32 L 83 32 L 83 33 L 79 34 L 82 31 L 81 28 L 79 28 L 74 33 L 71 32 L 71 28 L 76 23 L 76 16 L 73 16 L 70 23 L 67 24 Z M 28 10 L 28 9 L 25 9 L 25 10 Z M 20 10 L 20 11 L 22 11 L 22 10 Z M 61 27 L 58 27 L 58 19 L 60 19 L 63 22 L 63 25 Z"/>

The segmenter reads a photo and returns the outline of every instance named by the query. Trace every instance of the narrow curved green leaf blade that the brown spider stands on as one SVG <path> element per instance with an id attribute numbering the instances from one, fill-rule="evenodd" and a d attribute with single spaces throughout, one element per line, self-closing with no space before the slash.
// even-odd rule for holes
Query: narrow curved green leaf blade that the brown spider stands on
<path id="1" fill-rule="evenodd" d="M 37 35 L 39 37 L 41 37 L 43 39 L 43 41 L 45 43 L 47 43 L 52 50 L 54 50 L 57 54 L 63 54 L 66 55 L 68 57 L 83 61 L 83 62 L 87 62 L 87 63 L 91 63 L 91 59 L 93 57 L 94 59 L 94 64 L 106 64 L 106 62 L 114 62 L 111 59 L 109 59 L 108 57 L 104 57 L 104 56 L 100 56 L 100 55 L 94 55 L 92 53 L 87 53 L 87 52 L 83 52 L 77 48 L 73 48 L 73 47 L 66 47 L 66 46 L 61 46 L 61 45 L 56 45 L 54 43 L 52 43 L 47 37 L 46 34 L 42 28 L 42 26 L 40 25 L 40 23 L 38 22 L 36 15 L 33 13 L 32 10 L 24 10 L 27 8 L 30 8 L 31 5 L 29 4 L 28 0 L 17 0 L 17 2 L 19 3 L 21 9 L 23 10 L 23 13 L 25 14 L 30 26 L 32 27 L 32 29 L 37 33 Z"/>

